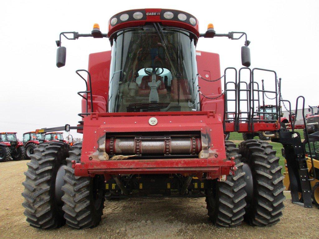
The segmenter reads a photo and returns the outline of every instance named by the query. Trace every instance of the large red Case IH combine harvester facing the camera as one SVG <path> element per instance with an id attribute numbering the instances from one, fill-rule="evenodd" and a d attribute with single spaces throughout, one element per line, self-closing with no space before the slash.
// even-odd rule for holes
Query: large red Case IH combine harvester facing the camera
<path id="1" fill-rule="evenodd" d="M 38 130 L 77 129 L 83 143 L 69 150 L 64 142 L 48 142 L 34 150 L 22 193 L 31 226 L 50 229 L 66 221 L 72 228 L 93 228 L 101 220 L 106 193 L 205 197 L 209 218 L 218 226 L 238 226 L 244 216 L 251 225 L 275 224 L 285 199 L 279 158 L 265 141 L 247 140 L 236 148 L 224 140 L 235 131 L 274 132 L 266 136 L 284 145 L 293 202 L 301 192 L 303 205 L 311 207 L 300 135 L 278 123 L 280 79 L 275 71 L 248 68 L 246 33 L 217 34 L 210 24 L 200 34 L 197 19 L 183 11 L 123 11 L 109 20 L 108 34 L 97 24 L 89 34 L 60 33 L 57 67 L 66 59 L 61 36 L 108 38 L 112 51 L 90 54 L 88 71 L 76 71 L 86 84 L 78 92 L 78 126 Z M 200 37 L 245 38 L 245 67 L 227 68 L 221 76 L 219 55 L 196 51 Z M 258 73 L 271 74 L 267 84 L 275 90 L 257 88 Z M 276 112 L 255 111 L 256 95 L 265 93 L 274 96 Z M 276 119 L 265 122 L 255 114 Z"/>

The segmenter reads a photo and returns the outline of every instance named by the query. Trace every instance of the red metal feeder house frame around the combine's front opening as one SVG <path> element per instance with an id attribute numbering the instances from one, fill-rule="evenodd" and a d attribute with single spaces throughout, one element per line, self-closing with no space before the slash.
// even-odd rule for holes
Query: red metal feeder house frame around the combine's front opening
<path id="1" fill-rule="evenodd" d="M 158 120 L 155 126 L 149 124 L 153 116 Z M 100 149 L 105 150 L 105 137 L 108 134 L 173 131 L 194 131 L 207 135 L 209 158 L 103 161 L 97 157 Z M 87 176 L 89 173 L 209 172 L 219 177 L 220 166 L 233 166 L 232 161 L 226 161 L 221 116 L 214 112 L 93 113 L 84 118 L 83 133 L 81 163 L 75 165 L 78 176 Z"/>

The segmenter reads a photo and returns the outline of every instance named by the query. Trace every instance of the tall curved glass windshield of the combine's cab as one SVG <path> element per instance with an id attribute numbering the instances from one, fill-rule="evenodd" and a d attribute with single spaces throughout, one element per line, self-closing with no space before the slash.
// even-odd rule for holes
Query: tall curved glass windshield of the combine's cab
<path id="1" fill-rule="evenodd" d="M 159 24 L 114 33 L 109 112 L 199 110 L 196 42 Z"/>

